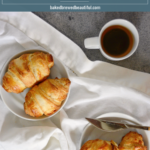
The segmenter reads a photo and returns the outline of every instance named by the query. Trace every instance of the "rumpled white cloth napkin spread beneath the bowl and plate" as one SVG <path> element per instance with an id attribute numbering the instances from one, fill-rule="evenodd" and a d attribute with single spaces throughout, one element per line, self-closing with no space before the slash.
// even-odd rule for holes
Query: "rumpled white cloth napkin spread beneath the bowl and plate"
<path id="1" fill-rule="evenodd" d="M 69 70 L 71 93 L 60 113 L 38 122 L 16 117 L 0 100 L 0 150 L 79 150 L 84 118 L 109 112 L 150 126 L 149 74 L 88 60 L 79 46 L 30 12 L 0 12 L 0 69 L 26 49 L 55 54 Z"/>

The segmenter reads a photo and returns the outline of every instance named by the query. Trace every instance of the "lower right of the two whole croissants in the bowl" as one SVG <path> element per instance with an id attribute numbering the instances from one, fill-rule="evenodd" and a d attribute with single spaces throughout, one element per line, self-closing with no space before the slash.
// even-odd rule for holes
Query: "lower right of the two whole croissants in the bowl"
<path id="1" fill-rule="evenodd" d="M 52 115 L 67 97 L 70 83 L 69 79 L 61 78 L 46 79 L 35 85 L 25 97 L 25 113 L 33 117 Z"/>

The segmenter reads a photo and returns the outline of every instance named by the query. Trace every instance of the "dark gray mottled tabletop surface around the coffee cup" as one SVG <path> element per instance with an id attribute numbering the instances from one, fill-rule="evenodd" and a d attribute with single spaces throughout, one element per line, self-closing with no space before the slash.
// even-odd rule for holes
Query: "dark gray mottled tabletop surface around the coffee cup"
<path id="1" fill-rule="evenodd" d="M 79 45 L 86 56 L 150 73 L 150 12 L 34 12 Z M 112 19 L 127 19 L 138 29 L 140 42 L 137 51 L 128 59 L 114 62 L 102 56 L 99 50 L 88 50 L 84 39 L 98 36 L 100 29 Z"/>

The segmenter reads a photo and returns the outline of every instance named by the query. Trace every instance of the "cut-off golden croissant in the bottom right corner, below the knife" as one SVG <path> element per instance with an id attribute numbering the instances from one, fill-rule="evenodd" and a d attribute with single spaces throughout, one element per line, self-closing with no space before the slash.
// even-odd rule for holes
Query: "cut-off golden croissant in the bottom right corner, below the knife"
<path id="1" fill-rule="evenodd" d="M 144 146 L 142 135 L 129 132 L 122 138 L 119 150 L 147 150 L 147 147 Z"/>

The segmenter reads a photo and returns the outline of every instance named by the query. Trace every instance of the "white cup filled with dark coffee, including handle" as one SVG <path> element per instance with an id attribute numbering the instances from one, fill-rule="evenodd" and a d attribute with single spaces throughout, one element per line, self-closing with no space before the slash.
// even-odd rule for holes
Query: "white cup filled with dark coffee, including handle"
<path id="1" fill-rule="evenodd" d="M 98 37 L 84 40 L 85 48 L 100 49 L 102 55 L 113 61 L 130 57 L 139 44 L 136 27 L 124 19 L 115 19 L 106 23 Z"/>

